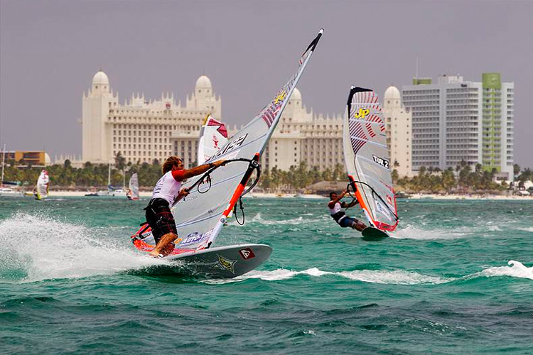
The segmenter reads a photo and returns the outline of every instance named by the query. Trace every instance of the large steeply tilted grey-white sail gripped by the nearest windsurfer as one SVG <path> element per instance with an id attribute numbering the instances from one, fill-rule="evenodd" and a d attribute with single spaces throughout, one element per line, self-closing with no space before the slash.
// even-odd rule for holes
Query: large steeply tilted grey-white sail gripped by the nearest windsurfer
<path id="1" fill-rule="evenodd" d="M 220 151 L 205 163 L 219 159 L 247 161 L 229 163 L 212 171 L 209 184 L 205 182 L 195 186 L 190 189 L 187 197 L 174 205 L 172 212 L 178 236 L 181 238 L 181 242 L 177 244 L 178 248 L 204 249 L 215 241 L 228 214 L 244 192 L 249 178 L 259 167 L 259 157 L 276 129 L 279 118 L 322 33 L 323 30 L 319 31 L 316 38 L 308 45 L 301 56 L 296 74 L 276 93 L 274 99 L 271 99 L 252 121 L 232 136 Z M 190 179 L 183 184 L 183 187 L 190 188 L 197 180 Z M 150 240 L 146 239 L 146 242 L 150 243 Z"/>

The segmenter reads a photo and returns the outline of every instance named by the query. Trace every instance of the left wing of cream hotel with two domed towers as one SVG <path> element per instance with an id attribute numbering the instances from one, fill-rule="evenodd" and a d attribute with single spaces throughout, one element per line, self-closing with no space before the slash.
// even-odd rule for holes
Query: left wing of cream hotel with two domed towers
<path id="1" fill-rule="evenodd" d="M 120 152 L 131 163 L 161 161 L 175 154 L 186 165 L 192 164 L 200 126 L 208 113 L 220 117 L 221 100 L 205 75 L 196 81 L 185 106 L 168 93 L 157 100 L 132 95 L 119 104 L 109 78 L 99 71 L 82 97 L 82 161 L 109 163 Z"/>

